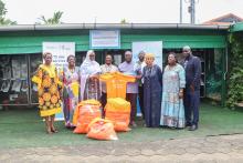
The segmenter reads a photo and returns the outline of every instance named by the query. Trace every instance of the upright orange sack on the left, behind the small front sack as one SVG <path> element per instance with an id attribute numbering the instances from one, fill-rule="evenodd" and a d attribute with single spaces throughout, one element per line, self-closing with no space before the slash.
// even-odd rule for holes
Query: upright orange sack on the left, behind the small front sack
<path id="1" fill-rule="evenodd" d="M 76 125 L 73 133 L 87 133 L 88 124 L 96 118 L 102 118 L 98 101 L 85 100 L 80 102 L 73 115 L 73 123 Z"/>

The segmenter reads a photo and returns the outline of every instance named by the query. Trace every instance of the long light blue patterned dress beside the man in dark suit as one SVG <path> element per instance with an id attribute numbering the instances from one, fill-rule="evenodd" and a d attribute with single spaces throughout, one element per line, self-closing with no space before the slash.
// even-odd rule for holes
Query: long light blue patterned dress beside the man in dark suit
<path id="1" fill-rule="evenodd" d="M 162 108 L 160 125 L 184 128 L 183 99 L 179 99 L 180 89 L 186 86 L 184 69 L 176 64 L 166 67 L 162 77 Z"/>

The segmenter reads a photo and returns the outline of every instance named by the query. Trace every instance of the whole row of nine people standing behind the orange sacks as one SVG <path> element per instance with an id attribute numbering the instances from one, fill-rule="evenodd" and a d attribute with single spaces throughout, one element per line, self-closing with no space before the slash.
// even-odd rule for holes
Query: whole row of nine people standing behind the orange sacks
<path id="1" fill-rule="evenodd" d="M 95 61 L 95 52 L 87 51 L 81 67 L 75 65 L 75 57 L 68 55 L 67 67 L 57 73 L 52 64 L 52 54 L 43 54 L 41 64 L 32 81 L 38 84 L 39 108 L 44 116 L 47 133 L 55 133 L 54 115 L 63 112 L 66 128 L 72 123 L 74 110 L 80 101 L 94 99 L 101 101 L 103 108 L 107 101 L 107 88 L 99 80 L 101 74 L 120 72 L 133 75 L 136 82 L 128 82 L 126 100 L 130 102 L 130 125 L 136 128 L 137 99 L 145 126 L 168 126 L 173 129 L 198 129 L 200 103 L 201 62 L 194 57 L 190 47 L 183 47 L 183 62 L 178 63 L 173 52 L 168 54 L 167 65 L 161 70 L 155 63 L 155 55 L 141 51 L 139 60 L 134 62 L 131 51 L 125 52 L 125 61 L 118 67 L 113 64 L 113 58 L 107 54 L 105 64 Z"/>

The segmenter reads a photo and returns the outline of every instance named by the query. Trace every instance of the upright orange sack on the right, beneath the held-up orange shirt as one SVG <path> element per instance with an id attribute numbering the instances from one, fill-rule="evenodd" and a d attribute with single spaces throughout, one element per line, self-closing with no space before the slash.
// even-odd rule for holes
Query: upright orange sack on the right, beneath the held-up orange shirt
<path id="1" fill-rule="evenodd" d="M 105 119 L 114 123 L 115 131 L 129 131 L 130 103 L 122 98 L 108 99 Z"/>

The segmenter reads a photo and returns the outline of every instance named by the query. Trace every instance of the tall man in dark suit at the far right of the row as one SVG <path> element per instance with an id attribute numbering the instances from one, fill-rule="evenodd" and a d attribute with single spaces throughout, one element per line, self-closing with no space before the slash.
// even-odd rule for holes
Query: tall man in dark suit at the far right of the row
<path id="1" fill-rule="evenodd" d="M 183 47 L 182 51 L 184 57 L 182 65 L 186 71 L 186 126 L 189 126 L 190 131 L 194 131 L 198 129 L 199 122 L 201 61 L 192 54 L 190 47 Z"/>

